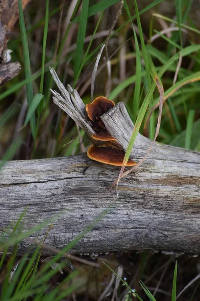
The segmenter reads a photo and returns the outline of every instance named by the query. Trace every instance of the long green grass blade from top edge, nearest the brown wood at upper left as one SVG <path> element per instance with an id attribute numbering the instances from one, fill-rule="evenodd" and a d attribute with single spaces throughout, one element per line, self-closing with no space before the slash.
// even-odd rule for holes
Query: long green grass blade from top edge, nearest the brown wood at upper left
<path id="1" fill-rule="evenodd" d="M 28 50 L 28 38 L 25 28 L 25 21 L 23 16 L 23 8 L 21 4 L 21 0 L 18 0 L 18 8 L 19 8 L 19 24 L 20 24 L 20 32 L 21 32 L 21 41 L 22 41 L 22 48 L 23 48 L 23 57 L 24 57 L 24 71 L 25 71 L 25 78 L 28 79 L 28 83 L 26 84 L 26 94 L 27 94 L 27 101 L 28 107 L 30 107 L 32 100 L 33 100 L 33 86 L 31 81 L 31 66 L 30 66 L 30 57 L 29 57 L 29 50 Z M 30 126 L 32 136 L 36 138 L 36 122 L 35 122 L 35 115 L 32 116 L 30 119 Z"/>

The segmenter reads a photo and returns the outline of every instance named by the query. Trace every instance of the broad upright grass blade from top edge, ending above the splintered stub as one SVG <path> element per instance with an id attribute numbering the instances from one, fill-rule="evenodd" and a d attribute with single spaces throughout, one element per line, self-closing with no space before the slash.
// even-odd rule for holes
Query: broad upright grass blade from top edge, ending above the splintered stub
<path id="1" fill-rule="evenodd" d="M 83 0 L 82 11 L 80 14 L 80 23 L 78 27 L 77 46 L 75 51 L 75 63 L 74 63 L 74 85 L 76 85 L 78 79 L 78 72 L 82 61 L 82 53 L 84 46 L 84 39 L 87 27 L 89 0 Z"/>

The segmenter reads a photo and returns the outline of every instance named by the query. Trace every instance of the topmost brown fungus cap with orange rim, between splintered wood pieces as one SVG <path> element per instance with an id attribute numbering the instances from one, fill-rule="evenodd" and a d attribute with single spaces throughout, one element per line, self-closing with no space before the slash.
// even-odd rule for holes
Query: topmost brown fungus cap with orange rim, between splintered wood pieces
<path id="1" fill-rule="evenodd" d="M 114 102 L 104 96 L 99 96 L 86 105 L 87 115 L 90 120 L 99 120 L 99 117 L 114 107 Z"/>

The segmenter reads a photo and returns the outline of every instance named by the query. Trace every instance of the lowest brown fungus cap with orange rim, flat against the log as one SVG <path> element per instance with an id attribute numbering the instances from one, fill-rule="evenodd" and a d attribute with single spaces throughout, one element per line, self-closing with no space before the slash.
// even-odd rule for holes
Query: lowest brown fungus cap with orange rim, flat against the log
<path id="1" fill-rule="evenodd" d="M 91 146 L 87 150 L 87 156 L 90 159 L 115 166 L 122 166 L 124 155 L 123 150 L 116 147 L 107 147 L 106 144 L 100 147 Z M 128 159 L 126 166 L 134 166 L 136 164 L 136 162 Z"/>

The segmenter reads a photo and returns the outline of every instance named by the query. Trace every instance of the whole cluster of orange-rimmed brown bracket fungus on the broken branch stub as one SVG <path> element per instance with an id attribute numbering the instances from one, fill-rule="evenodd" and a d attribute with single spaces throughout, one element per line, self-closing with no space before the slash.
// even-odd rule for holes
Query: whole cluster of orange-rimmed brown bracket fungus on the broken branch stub
<path id="1" fill-rule="evenodd" d="M 99 96 L 92 103 L 86 105 L 86 112 L 96 134 L 92 138 L 104 144 L 91 146 L 87 150 L 87 156 L 95 161 L 115 166 L 122 166 L 124 150 L 112 137 L 101 120 L 100 116 L 114 107 L 114 102 L 104 96 Z M 133 166 L 136 162 L 128 160 L 126 166 Z"/>

